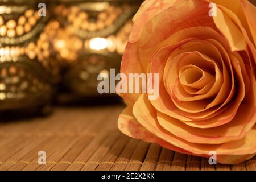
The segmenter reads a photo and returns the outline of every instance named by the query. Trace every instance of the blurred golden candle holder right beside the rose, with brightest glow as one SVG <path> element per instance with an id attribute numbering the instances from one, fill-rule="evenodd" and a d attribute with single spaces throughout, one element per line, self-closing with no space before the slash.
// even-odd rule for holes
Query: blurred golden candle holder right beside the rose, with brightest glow
<path id="1" fill-rule="evenodd" d="M 97 76 L 119 72 L 122 54 L 142 1 L 59 1 L 53 45 L 63 63 L 63 85 L 76 96 L 98 96 Z"/>

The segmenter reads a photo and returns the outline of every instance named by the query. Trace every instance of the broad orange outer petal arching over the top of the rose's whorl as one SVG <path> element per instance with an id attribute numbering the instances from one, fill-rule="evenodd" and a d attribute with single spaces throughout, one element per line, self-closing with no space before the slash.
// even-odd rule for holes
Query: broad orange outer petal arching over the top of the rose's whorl
<path id="1" fill-rule="evenodd" d="M 152 54 L 159 48 L 160 44 L 174 32 L 191 26 L 216 28 L 214 27 L 213 19 L 208 16 L 209 4 L 207 1 L 179 0 L 154 2 L 141 10 L 139 14 L 142 14 L 142 16 L 138 15 L 135 18 L 129 39 L 131 43 L 138 42 L 139 59 L 145 70 L 148 69 L 148 64 L 144 63 L 148 63 L 148 60 L 151 59 Z M 165 5 L 165 3 L 169 5 Z M 165 9 L 165 7 L 168 7 L 168 9 Z M 157 11 L 157 13 L 152 13 L 154 11 Z"/>

